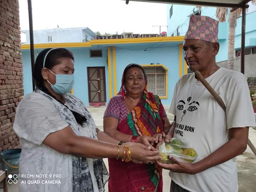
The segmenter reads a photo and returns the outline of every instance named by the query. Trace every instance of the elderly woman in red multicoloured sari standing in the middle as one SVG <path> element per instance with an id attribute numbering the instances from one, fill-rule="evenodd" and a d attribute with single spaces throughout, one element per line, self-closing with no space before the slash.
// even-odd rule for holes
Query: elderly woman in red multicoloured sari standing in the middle
<path id="1" fill-rule="evenodd" d="M 151 146 L 161 141 L 170 122 L 161 100 L 147 91 L 142 66 L 129 64 L 123 72 L 118 95 L 111 98 L 104 114 L 104 132 L 123 142 Z M 119 144 L 122 144 L 120 142 Z M 162 169 L 156 164 L 135 164 L 108 159 L 109 192 L 161 192 Z"/>

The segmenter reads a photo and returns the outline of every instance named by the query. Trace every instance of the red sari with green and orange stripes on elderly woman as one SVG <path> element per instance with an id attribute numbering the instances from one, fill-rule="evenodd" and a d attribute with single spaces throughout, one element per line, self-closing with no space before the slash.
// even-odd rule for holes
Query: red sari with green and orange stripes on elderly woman
<path id="1" fill-rule="evenodd" d="M 122 82 L 124 81 L 122 80 Z M 125 92 L 122 85 L 119 95 L 123 99 Z M 129 135 L 151 137 L 163 130 L 165 117 L 160 117 L 160 114 L 163 114 L 161 110 L 164 108 L 159 97 L 148 92 L 145 86 L 139 103 L 119 123 L 117 130 Z M 162 192 L 162 169 L 156 164 L 135 164 L 110 158 L 108 165 L 109 192 Z"/>

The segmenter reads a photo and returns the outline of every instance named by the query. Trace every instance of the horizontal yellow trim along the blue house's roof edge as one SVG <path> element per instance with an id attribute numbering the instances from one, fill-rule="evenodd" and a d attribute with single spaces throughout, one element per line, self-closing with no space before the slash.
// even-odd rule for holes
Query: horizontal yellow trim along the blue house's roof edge
<path id="1" fill-rule="evenodd" d="M 155 42 L 182 42 L 184 36 L 167 37 L 146 37 L 146 38 L 126 38 L 126 39 L 95 39 L 89 42 L 77 43 L 41 43 L 34 44 L 35 49 L 59 48 L 59 47 L 91 47 L 102 44 L 129 44 L 129 43 L 155 43 Z M 30 44 L 21 45 L 21 49 L 30 49 Z"/>

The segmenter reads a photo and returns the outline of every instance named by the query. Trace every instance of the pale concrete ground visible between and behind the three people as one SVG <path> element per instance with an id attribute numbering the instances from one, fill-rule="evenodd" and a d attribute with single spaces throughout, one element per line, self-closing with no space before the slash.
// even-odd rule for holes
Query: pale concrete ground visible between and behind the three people
<path id="1" fill-rule="evenodd" d="M 165 107 L 166 112 L 168 112 L 169 107 Z M 103 114 L 106 107 L 101 106 L 98 108 L 87 107 L 92 116 L 97 127 L 103 129 Z M 173 121 L 174 116 L 167 113 L 170 121 Z M 256 130 L 250 128 L 249 138 L 251 142 L 256 146 Z M 108 167 L 107 159 L 103 159 L 106 166 Z M 256 192 L 256 156 L 252 153 L 249 146 L 246 151 L 237 157 L 237 168 L 238 168 L 238 183 L 239 183 L 239 192 Z M 171 179 L 168 175 L 169 171 L 163 171 L 163 180 L 164 180 L 164 189 L 163 192 L 169 192 Z M 108 192 L 107 183 L 106 183 L 106 192 Z M 11 184 L 8 188 L 9 192 L 18 192 L 17 184 Z M 2 188 L 0 192 L 3 192 Z"/>

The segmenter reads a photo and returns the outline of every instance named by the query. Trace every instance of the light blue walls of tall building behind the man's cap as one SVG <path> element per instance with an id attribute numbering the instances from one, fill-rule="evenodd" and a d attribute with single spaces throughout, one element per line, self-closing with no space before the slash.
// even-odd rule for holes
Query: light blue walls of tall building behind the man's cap
<path id="1" fill-rule="evenodd" d="M 173 14 L 170 17 L 171 4 L 167 5 L 167 36 L 171 36 L 174 32 L 174 36 L 177 35 L 176 29 L 179 28 L 180 35 L 185 35 L 188 24 L 188 15 L 196 12 L 198 9 L 195 6 L 188 5 L 172 5 Z M 246 35 L 245 35 L 245 47 L 256 46 L 256 6 L 250 4 L 249 13 L 246 15 Z M 216 18 L 216 8 L 214 7 L 202 7 L 201 15 L 209 16 L 214 19 Z M 226 20 L 228 21 L 228 17 Z M 219 33 L 218 39 L 220 44 L 220 50 L 216 56 L 216 61 L 220 62 L 228 59 L 228 22 L 219 23 Z M 236 37 L 235 37 L 235 49 L 240 49 L 241 47 L 241 17 L 237 19 L 236 25 Z"/>

